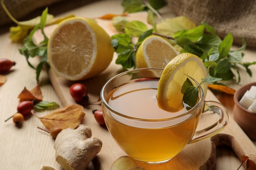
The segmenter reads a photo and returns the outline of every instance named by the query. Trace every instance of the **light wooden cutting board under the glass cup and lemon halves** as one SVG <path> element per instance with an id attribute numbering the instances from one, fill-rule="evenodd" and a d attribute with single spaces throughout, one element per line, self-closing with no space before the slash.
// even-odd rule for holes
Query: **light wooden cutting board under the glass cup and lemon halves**
<path id="1" fill-rule="evenodd" d="M 141 20 L 146 21 L 146 13 L 134 13 L 127 16 L 129 20 Z M 96 19 L 98 24 L 109 33 L 109 35 L 115 34 L 115 29 L 113 28 L 110 20 Z M 45 28 L 45 32 L 49 35 L 55 26 L 49 26 Z M 42 36 L 40 32 L 34 35 L 35 42 L 40 42 Z M 49 69 L 49 78 L 52 85 L 60 98 L 63 106 L 69 104 L 75 104 L 74 100 L 69 94 L 69 87 L 74 83 L 82 83 L 88 88 L 89 102 L 94 102 L 99 99 L 99 94 L 103 84 L 105 84 L 108 79 L 123 72 L 124 70 L 120 65 L 115 64 L 117 55 L 114 55 L 113 61 L 110 66 L 103 71 L 100 75 L 93 77 L 91 79 L 72 82 L 58 77 L 51 69 Z M 207 92 L 207 100 L 218 101 L 218 99 L 211 93 Z M 79 103 L 83 105 L 83 103 Z M 101 139 L 103 146 L 99 154 L 93 159 L 93 161 L 88 166 L 88 170 L 109 170 L 112 163 L 123 155 L 126 155 L 115 143 L 114 139 L 110 136 L 106 127 L 100 126 L 94 119 L 92 114 L 92 109 L 101 110 L 100 105 L 83 105 L 85 118 L 82 124 L 89 126 L 92 129 L 92 136 Z M 213 122 L 212 117 L 202 117 L 200 127 L 204 127 L 205 124 L 210 124 Z M 234 119 L 229 118 L 229 123 L 227 127 L 218 135 L 212 137 L 211 139 L 206 139 L 194 144 L 187 145 L 182 152 L 180 152 L 171 161 L 158 165 L 146 165 L 140 164 L 146 170 L 211 170 L 213 169 L 216 162 L 216 146 L 228 146 L 233 148 L 237 156 L 240 158 L 243 155 L 248 156 L 252 162 L 250 166 L 255 165 L 256 162 L 256 147 L 252 141 L 245 135 L 243 130 L 236 124 Z M 244 164 L 246 166 L 246 163 Z M 224 168 L 224 167 L 223 167 Z M 227 168 L 227 167 L 226 167 Z M 255 168 L 255 167 L 254 167 Z M 225 169 L 225 168 L 224 168 Z"/>

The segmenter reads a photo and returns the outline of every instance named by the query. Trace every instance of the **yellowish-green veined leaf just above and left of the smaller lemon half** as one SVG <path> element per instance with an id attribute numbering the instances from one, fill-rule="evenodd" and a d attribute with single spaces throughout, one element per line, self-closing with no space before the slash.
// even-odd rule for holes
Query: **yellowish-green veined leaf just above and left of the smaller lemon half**
<path id="1" fill-rule="evenodd" d="M 127 22 L 125 24 L 125 27 L 128 28 L 130 33 L 135 37 L 139 37 L 139 35 L 141 35 L 142 33 L 148 30 L 148 27 L 146 26 L 146 24 L 136 20 Z"/>

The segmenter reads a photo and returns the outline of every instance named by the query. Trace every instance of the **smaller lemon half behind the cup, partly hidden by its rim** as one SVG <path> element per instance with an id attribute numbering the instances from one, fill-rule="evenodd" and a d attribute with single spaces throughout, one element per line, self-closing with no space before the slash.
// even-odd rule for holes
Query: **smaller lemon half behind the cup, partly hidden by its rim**
<path id="1" fill-rule="evenodd" d="M 136 53 L 137 68 L 164 68 L 177 55 L 174 47 L 164 38 L 150 35 Z"/>

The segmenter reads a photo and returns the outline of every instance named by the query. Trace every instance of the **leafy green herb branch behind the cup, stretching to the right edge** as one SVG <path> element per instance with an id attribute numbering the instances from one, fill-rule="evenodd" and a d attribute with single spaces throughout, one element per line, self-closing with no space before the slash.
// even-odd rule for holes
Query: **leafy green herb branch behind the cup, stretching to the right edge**
<path id="1" fill-rule="evenodd" d="M 154 2 L 154 0 L 152 0 Z M 192 53 L 200 57 L 203 61 L 207 55 L 203 51 L 210 51 L 211 54 L 219 54 L 215 61 L 215 67 L 209 67 L 208 73 L 211 77 L 217 77 L 222 80 L 236 79 L 240 82 L 241 67 L 252 77 L 252 71 L 249 66 L 256 62 L 243 62 L 244 50 L 246 48 L 245 39 L 242 38 L 243 45 L 236 50 L 231 50 L 233 45 L 233 35 L 228 33 L 222 40 L 215 32 L 212 26 L 206 22 L 200 25 L 195 24 L 185 17 L 167 18 L 157 24 L 155 16 L 158 16 L 156 10 L 152 10 L 153 5 L 141 0 L 124 0 L 122 5 L 124 11 L 137 12 L 148 10 L 147 22 L 152 25 L 148 29 L 146 24 L 139 21 L 128 21 L 125 17 L 119 17 L 119 22 L 115 22 L 122 31 L 112 36 L 112 46 L 118 57 L 116 64 L 121 64 L 123 68 L 136 68 L 136 53 L 143 40 L 152 35 L 158 35 L 166 38 L 180 53 Z M 153 4 L 153 3 L 152 3 Z M 148 6 L 147 6 L 148 5 Z M 151 6 L 150 6 L 151 5 Z M 136 6 L 136 8 L 135 8 Z M 154 8 L 155 9 L 155 8 Z M 158 16 L 158 18 L 160 18 Z M 113 18 L 115 20 L 115 17 Z M 137 39 L 135 39 L 137 38 Z M 132 40 L 138 40 L 133 42 Z M 210 55 L 209 55 L 210 56 Z M 217 84 L 218 82 L 215 82 Z"/>

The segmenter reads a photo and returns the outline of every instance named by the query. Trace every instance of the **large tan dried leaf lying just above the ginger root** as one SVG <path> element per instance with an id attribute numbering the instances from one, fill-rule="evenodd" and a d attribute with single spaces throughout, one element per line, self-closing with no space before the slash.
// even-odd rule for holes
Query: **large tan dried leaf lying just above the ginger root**
<path id="1" fill-rule="evenodd" d="M 83 121 L 83 106 L 71 104 L 65 108 L 58 108 L 44 117 L 38 117 L 45 127 L 51 131 L 53 128 L 77 128 Z"/>

